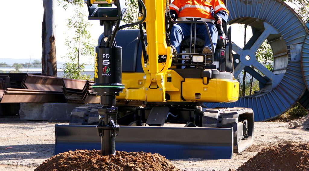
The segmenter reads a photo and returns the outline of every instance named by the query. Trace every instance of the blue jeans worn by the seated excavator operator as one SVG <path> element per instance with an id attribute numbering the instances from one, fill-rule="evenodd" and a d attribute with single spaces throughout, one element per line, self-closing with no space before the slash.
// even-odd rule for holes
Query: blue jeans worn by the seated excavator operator
<path id="1" fill-rule="evenodd" d="M 214 49 L 216 49 L 217 40 L 218 40 L 218 30 L 213 23 L 207 22 L 207 25 L 209 27 L 211 40 L 214 44 Z M 191 28 L 190 24 L 185 24 L 185 23 L 178 23 L 177 25 L 173 26 L 171 30 L 171 34 L 170 34 L 170 39 L 171 39 L 171 45 L 176 48 L 177 53 L 179 53 L 180 51 L 181 41 L 184 40 L 185 37 L 190 37 L 190 28 Z M 192 31 L 192 37 L 193 37 L 194 36 L 194 24 L 193 24 L 192 30 L 193 30 Z M 197 24 L 196 34 L 203 35 L 204 40 L 205 40 L 204 47 L 208 46 L 211 49 L 210 39 L 207 33 L 206 26 L 204 24 Z M 212 51 L 214 53 L 214 50 Z"/>

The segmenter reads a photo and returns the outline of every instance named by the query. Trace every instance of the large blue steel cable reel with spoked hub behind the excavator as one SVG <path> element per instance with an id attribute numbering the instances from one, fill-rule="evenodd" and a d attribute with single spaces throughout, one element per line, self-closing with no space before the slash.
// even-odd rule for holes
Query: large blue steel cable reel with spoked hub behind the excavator
<path id="1" fill-rule="evenodd" d="M 255 121 L 271 120 L 290 109 L 306 89 L 299 49 L 303 47 L 307 28 L 293 9 L 278 0 L 228 0 L 228 10 L 230 25 L 251 26 L 253 33 L 243 48 L 232 45 L 235 78 L 245 70 L 259 82 L 260 91 L 239 97 L 233 103 L 205 103 L 205 106 L 251 108 Z M 265 40 L 273 50 L 271 71 L 255 55 Z"/>

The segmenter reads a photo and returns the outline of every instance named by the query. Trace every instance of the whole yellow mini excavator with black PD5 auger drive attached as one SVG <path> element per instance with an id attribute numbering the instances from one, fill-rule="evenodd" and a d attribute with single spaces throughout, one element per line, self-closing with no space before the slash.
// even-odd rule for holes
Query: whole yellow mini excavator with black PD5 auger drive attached
<path id="1" fill-rule="evenodd" d="M 138 0 L 139 21 L 120 26 L 124 0 L 87 0 L 88 18 L 104 26 L 95 47 L 92 86 L 101 103 L 77 107 L 70 125 L 55 126 L 55 154 L 101 149 L 102 155 L 119 150 L 160 153 L 169 159 L 218 159 L 231 158 L 252 144 L 252 109 L 203 106 L 238 100 L 231 28 L 217 25 L 220 38 L 214 53 L 202 54 L 204 39 L 195 28 L 205 24 L 210 35 L 207 24 L 198 18 L 181 21 L 191 26 L 191 36 L 182 41 L 178 54 L 169 34 L 180 21 L 171 20 L 169 3 Z M 135 25 L 139 30 L 122 30 Z"/>

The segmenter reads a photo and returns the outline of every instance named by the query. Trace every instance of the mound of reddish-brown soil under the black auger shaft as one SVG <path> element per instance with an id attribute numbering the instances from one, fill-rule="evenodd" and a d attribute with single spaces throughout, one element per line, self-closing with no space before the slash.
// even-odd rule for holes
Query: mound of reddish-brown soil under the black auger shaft
<path id="1" fill-rule="evenodd" d="M 165 157 L 155 153 L 122 152 L 101 156 L 99 150 L 75 150 L 57 154 L 35 171 L 180 171 Z"/>

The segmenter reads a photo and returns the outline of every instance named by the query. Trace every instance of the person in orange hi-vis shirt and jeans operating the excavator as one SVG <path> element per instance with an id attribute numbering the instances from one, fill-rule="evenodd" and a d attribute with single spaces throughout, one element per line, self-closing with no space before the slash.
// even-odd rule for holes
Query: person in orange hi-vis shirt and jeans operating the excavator
<path id="1" fill-rule="evenodd" d="M 214 15 L 218 15 L 217 24 L 227 22 L 229 11 L 226 9 L 222 0 L 174 0 L 170 4 L 171 18 L 175 21 L 188 21 L 187 18 L 201 18 L 198 21 L 207 23 L 211 35 L 214 49 L 216 49 L 218 40 L 218 31 L 214 25 Z M 211 43 L 204 24 L 197 25 L 197 35 L 204 35 L 203 54 L 211 54 Z M 171 45 L 176 48 L 177 53 L 180 51 L 181 41 L 190 36 L 190 24 L 178 23 L 171 29 L 170 39 Z M 214 50 L 213 49 L 213 50 Z"/>

